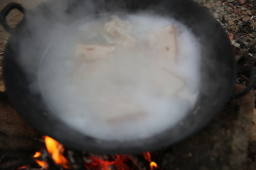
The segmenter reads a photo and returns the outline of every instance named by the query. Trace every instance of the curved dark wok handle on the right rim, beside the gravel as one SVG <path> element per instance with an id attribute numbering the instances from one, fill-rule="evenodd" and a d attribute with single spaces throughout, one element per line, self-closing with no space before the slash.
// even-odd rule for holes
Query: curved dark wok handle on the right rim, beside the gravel
<path id="1" fill-rule="evenodd" d="M 233 94 L 231 96 L 231 98 L 235 99 L 235 98 L 240 98 L 242 96 L 245 96 L 245 94 L 247 94 L 252 89 L 252 87 L 255 85 L 256 69 L 245 68 L 245 69 L 238 70 L 238 74 L 245 74 L 245 73 L 249 76 L 249 81 L 248 81 L 246 88 L 238 94 Z"/>

